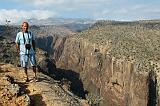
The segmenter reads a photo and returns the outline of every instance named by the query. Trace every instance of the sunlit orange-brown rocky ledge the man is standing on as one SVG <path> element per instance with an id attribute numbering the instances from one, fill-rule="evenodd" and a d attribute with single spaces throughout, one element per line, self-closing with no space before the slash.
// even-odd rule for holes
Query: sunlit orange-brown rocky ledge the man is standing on
<path id="1" fill-rule="evenodd" d="M 25 82 L 22 68 L 11 64 L 0 64 L 0 105 L 1 106 L 88 106 L 69 91 L 69 85 L 28 70 L 30 82 Z"/>

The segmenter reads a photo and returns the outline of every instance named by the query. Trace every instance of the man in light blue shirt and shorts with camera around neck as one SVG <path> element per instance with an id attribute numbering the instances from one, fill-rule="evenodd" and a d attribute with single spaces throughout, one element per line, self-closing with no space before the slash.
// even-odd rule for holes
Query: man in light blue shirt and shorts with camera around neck
<path id="1" fill-rule="evenodd" d="M 18 32 L 16 36 L 16 48 L 18 53 L 20 54 L 20 63 L 24 68 L 26 74 L 26 82 L 29 82 L 28 74 L 27 74 L 27 66 L 28 61 L 30 60 L 30 64 L 33 68 L 33 72 L 36 76 L 36 58 L 35 58 L 35 37 L 34 35 L 28 31 L 29 24 L 28 22 L 22 23 L 22 32 Z"/>

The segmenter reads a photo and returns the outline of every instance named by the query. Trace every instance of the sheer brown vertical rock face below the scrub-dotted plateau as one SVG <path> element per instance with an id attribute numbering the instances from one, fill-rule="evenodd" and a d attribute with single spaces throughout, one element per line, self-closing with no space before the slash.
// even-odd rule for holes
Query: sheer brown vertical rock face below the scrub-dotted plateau
<path id="1" fill-rule="evenodd" d="M 107 46 L 86 39 L 69 38 L 57 62 L 57 67 L 80 73 L 84 87 L 101 106 L 146 106 L 148 102 L 148 72 L 138 64 L 109 54 Z M 102 102 L 102 103 L 101 103 Z"/>

